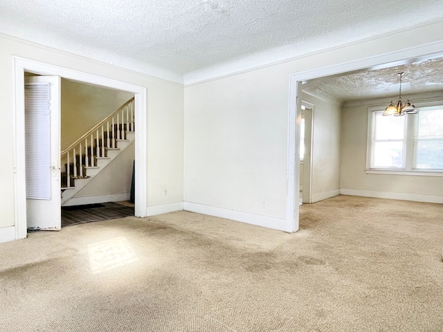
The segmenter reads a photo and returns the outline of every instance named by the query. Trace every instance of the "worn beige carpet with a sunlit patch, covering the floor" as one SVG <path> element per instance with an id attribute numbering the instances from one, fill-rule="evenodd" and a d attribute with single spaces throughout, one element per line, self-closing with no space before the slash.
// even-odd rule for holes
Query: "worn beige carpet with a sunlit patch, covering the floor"
<path id="1" fill-rule="evenodd" d="M 0 244 L 1 331 L 443 331 L 443 205 L 338 196 L 286 234 L 190 212 Z"/>

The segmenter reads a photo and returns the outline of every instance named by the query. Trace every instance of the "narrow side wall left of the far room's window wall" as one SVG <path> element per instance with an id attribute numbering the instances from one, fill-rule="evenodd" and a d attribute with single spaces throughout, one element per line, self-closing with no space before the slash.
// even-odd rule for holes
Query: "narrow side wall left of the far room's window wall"
<path id="1" fill-rule="evenodd" d="M 314 104 L 311 202 L 340 194 L 341 106 L 303 93 Z"/>

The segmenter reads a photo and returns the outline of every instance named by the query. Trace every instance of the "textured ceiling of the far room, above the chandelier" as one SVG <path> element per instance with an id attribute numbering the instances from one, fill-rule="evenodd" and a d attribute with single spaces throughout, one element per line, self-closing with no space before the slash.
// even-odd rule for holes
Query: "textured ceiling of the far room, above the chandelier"
<path id="1" fill-rule="evenodd" d="M 303 85 L 305 91 L 338 104 L 345 101 L 385 98 L 399 94 L 432 93 L 443 91 L 443 57 L 426 59 L 401 66 L 379 70 L 358 71 L 310 80 Z"/>

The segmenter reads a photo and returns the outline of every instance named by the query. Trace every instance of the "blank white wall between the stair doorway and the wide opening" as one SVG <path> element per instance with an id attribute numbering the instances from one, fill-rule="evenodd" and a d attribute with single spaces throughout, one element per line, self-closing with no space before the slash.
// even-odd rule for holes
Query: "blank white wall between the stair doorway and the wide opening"
<path id="1" fill-rule="evenodd" d="M 287 98 L 274 68 L 186 88 L 186 202 L 284 219 Z"/>

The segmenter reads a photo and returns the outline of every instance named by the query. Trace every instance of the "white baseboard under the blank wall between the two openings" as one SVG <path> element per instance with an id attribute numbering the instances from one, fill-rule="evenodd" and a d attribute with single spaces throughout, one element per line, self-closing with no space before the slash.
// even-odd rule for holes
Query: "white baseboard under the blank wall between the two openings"
<path id="1" fill-rule="evenodd" d="M 273 228 L 274 230 L 285 230 L 285 219 L 275 218 L 273 216 L 263 216 L 261 214 L 253 214 L 249 212 L 241 212 L 217 208 L 215 206 L 184 202 L 184 210 L 209 216 L 218 216 L 224 219 L 241 221 L 242 223 L 250 223 L 251 225 Z"/>

